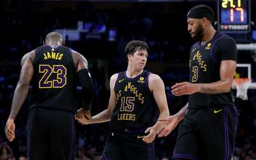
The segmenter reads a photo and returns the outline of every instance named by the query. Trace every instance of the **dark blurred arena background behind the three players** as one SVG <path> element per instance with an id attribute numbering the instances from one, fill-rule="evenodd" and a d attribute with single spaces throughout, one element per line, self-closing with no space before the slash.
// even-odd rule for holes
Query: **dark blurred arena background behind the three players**
<path id="1" fill-rule="evenodd" d="M 81 52 L 88 62 L 96 95 L 92 114 L 107 107 L 109 78 L 126 69 L 124 47 L 132 39 L 150 46 L 146 69 L 160 75 L 166 86 L 171 114 L 187 102 L 188 97 L 174 97 L 170 86 L 188 80 L 188 53 L 193 44 L 187 32 L 186 14 L 190 7 L 210 5 L 217 15 L 216 1 L 0 1 L 0 160 L 25 159 L 26 125 L 29 97 L 16 118 L 16 139 L 8 142 L 4 127 L 20 71 L 20 60 L 33 48 L 42 45 L 46 34 L 59 31 L 66 46 Z M 251 0 L 251 29 L 247 43 L 255 43 L 256 1 Z M 217 16 L 215 17 L 217 21 Z M 215 28 L 217 28 L 215 23 Z M 238 63 L 252 65 L 255 82 L 255 50 L 238 53 Z M 245 76 L 246 77 L 246 76 Z M 236 99 L 239 126 L 234 160 L 256 159 L 256 90 L 249 89 L 246 101 Z M 236 91 L 234 90 L 236 93 Z M 76 124 L 76 159 L 100 159 L 108 123 Z M 156 159 L 171 159 L 177 129 L 167 138 L 156 138 Z"/>

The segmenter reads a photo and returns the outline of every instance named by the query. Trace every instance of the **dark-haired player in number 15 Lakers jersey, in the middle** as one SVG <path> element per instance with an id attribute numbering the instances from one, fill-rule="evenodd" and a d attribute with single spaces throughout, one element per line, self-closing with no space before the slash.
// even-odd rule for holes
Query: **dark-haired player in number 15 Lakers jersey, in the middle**
<path id="1" fill-rule="evenodd" d="M 145 42 L 129 42 L 127 70 L 111 76 L 109 107 L 88 121 L 80 112 L 76 114 L 84 124 L 110 121 L 102 159 L 154 159 L 154 139 L 162 125 L 154 124 L 156 106 L 159 118 L 169 116 L 169 110 L 161 78 L 143 70 L 148 51 Z"/>

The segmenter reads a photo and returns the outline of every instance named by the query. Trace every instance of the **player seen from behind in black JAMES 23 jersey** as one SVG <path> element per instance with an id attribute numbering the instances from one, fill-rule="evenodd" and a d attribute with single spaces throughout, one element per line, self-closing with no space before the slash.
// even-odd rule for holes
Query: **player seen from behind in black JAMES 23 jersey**
<path id="1" fill-rule="evenodd" d="M 21 60 L 22 69 L 5 134 L 10 142 L 14 140 L 14 120 L 27 97 L 31 82 L 28 159 L 74 159 L 76 78 L 83 86 L 83 93 L 87 93 L 81 110 L 87 117 L 91 115 L 94 86 L 87 60 L 78 52 L 63 46 L 64 41 L 59 33 L 48 33 L 44 44 L 25 54 Z"/>

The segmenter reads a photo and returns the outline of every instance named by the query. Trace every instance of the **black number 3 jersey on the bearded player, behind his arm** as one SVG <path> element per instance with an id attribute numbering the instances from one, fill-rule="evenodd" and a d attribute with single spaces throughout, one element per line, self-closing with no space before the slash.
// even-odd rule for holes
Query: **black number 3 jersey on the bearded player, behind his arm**
<path id="1" fill-rule="evenodd" d="M 209 42 L 201 46 L 197 42 L 190 49 L 190 82 L 212 83 L 221 80 L 221 61 L 237 60 L 236 42 L 231 37 L 217 33 Z M 214 105 L 233 105 L 229 93 L 194 93 L 189 96 L 188 108 L 201 108 Z"/>

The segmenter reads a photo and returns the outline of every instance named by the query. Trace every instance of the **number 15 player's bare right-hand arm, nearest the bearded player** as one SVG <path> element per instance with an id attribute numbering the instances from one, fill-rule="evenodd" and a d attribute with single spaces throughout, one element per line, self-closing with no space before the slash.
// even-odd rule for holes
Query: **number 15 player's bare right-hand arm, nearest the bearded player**
<path id="1" fill-rule="evenodd" d="M 159 116 L 158 118 L 166 118 L 169 116 L 169 108 L 167 104 L 167 99 L 165 95 L 165 84 L 162 82 L 161 78 L 156 74 L 150 74 L 149 76 L 149 87 L 150 91 L 152 91 L 154 95 L 154 99 L 159 109 Z M 146 143 L 153 142 L 154 138 L 156 137 L 156 133 L 160 131 L 162 122 L 157 121 L 153 127 L 148 128 L 145 133 L 149 132 L 147 136 L 143 138 L 143 141 Z"/>

